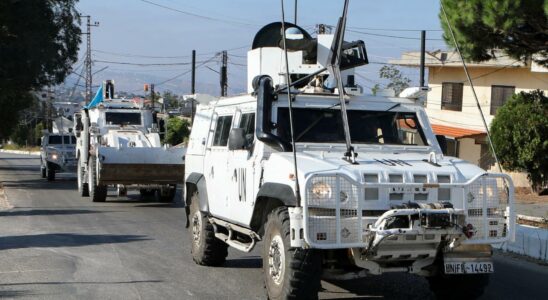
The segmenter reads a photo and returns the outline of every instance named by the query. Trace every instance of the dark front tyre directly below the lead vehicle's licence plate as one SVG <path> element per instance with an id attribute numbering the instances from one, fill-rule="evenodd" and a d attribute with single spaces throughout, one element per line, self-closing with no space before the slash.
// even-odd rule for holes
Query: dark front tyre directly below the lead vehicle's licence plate
<path id="1" fill-rule="evenodd" d="M 440 270 L 428 277 L 430 291 L 436 299 L 477 299 L 489 284 L 490 274 L 445 275 Z"/>

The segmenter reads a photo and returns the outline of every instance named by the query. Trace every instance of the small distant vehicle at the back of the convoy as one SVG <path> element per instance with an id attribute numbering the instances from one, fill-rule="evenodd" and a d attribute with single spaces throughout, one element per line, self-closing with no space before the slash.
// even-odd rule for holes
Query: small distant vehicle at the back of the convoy
<path id="1" fill-rule="evenodd" d="M 40 174 L 48 181 L 55 174 L 76 171 L 76 137 L 69 132 L 44 132 L 40 140 Z"/>

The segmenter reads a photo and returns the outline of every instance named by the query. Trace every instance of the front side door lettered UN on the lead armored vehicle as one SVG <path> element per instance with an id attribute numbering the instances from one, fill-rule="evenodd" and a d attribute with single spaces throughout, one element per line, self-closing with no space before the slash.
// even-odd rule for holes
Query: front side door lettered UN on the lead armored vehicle
<path id="1" fill-rule="evenodd" d="M 244 129 L 246 144 L 242 149 L 228 153 L 231 219 L 241 225 L 249 225 L 254 205 L 255 172 L 260 172 L 260 162 L 257 162 L 254 151 L 255 111 L 238 111 L 235 117 L 234 127 Z"/>

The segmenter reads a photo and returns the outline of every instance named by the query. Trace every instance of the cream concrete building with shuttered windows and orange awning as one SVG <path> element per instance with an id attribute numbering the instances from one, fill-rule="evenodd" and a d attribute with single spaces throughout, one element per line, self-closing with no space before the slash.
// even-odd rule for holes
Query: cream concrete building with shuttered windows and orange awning
<path id="1" fill-rule="evenodd" d="M 420 52 L 405 52 L 391 64 L 419 67 Z M 491 169 L 486 133 L 476 100 L 466 79 L 458 53 L 435 51 L 426 54 L 428 87 L 426 111 L 436 134 L 445 135 L 448 155 Z M 490 124 L 497 109 L 514 93 L 544 90 L 548 94 L 548 69 L 534 62 L 519 62 L 501 54 L 497 59 L 467 63 L 483 114 Z M 512 174 L 516 186 L 529 183 L 524 174 Z"/>

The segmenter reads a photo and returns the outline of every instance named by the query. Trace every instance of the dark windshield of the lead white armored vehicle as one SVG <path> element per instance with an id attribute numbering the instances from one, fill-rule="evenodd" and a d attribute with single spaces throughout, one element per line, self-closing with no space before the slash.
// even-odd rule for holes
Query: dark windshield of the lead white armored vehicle
<path id="1" fill-rule="evenodd" d="M 410 112 L 348 110 L 355 144 L 427 145 L 417 115 Z M 339 109 L 294 108 L 295 142 L 345 143 Z M 278 110 L 277 135 L 290 141 L 289 110 Z"/>

